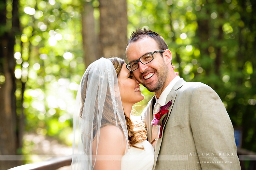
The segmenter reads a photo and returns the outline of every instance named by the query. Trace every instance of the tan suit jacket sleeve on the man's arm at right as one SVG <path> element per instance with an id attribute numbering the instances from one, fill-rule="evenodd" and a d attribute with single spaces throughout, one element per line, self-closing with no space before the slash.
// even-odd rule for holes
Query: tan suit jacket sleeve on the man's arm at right
<path id="1" fill-rule="evenodd" d="M 207 85 L 191 95 L 190 126 L 203 170 L 241 169 L 231 120 L 217 93 Z"/>

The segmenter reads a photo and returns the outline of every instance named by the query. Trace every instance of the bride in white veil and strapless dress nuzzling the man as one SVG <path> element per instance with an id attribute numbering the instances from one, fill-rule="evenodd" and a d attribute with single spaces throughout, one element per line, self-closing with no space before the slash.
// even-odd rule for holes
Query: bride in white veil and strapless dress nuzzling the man
<path id="1" fill-rule="evenodd" d="M 143 100 L 123 59 L 100 58 L 86 69 L 73 117 L 72 170 L 150 170 L 154 149 L 146 130 L 130 119 Z"/>

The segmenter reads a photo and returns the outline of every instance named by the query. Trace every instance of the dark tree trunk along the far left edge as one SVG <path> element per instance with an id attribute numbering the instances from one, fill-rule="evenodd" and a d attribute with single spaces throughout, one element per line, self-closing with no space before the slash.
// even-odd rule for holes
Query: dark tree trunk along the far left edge
<path id="1" fill-rule="evenodd" d="M 4 6 L 2 6 L 4 5 Z M 6 27 L 6 3 L 1 2 L 0 25 Z M 18 1 L 13 1 L 12 28 L 0 34 L 0 75 L 5 81 L 0 84 L 0 155 L 16 155 L 19 146 L 16 122 L 16 78 L 13 57 L 15 34 L 19 30 Z M 1 161 L 0 170 L 18 166 L 17 161 Z"/>

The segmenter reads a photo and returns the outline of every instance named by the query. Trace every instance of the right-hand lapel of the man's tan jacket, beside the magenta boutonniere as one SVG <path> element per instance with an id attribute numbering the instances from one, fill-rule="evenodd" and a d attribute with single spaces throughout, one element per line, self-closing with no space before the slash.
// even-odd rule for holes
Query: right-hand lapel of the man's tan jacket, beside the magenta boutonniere
<path id="1" fill-rule="evenodd" d="M 172 90 L 170 91 L 170 93 L 168 94 L 168 96 L 167 96 L 167 98 L 166 98 L 165 104 L 167 104 L 169 101 L 172 100 L 172 105 L 168 108 L 169 112 L 167 113 L 167 119 L 166 119 L 165 125 L 163 126 L 163 129 L 162 129 L 162 137 L 161 137 L 161 138 L 158 138 L 158 140 L 157 140 L 157 142 L 156 142 L 155 162 L 154 162 L 154 168 L 153 168 L 153 169 L 155 169 L 157 157 L 158 157 L 158 154 L 159 154 L 159 151 L 160 151 L 160 147 L 161 147 L 161 144 L 162 144 L 162 138 L 163 138 L 163 136 L 164 136 L 163 131 L 165 131 L 166 123 L 167 123 L 167 121 L 168 121 L 168 118 L 170 117 L 170 114 L 171 114 L 171 111 L 172 111 L 172 107 L 173 107 L 174 101 L 175 101 L 176 96 L 177 96 L 176 90 L 179 89 L 184 83 L 185 83 L 185 81 L 184 81 L 183 79 L 179 80 L 179 81 L 173 86 Z M 152 113 L 151 113 L 151 115 L 152 115 Z M 151 126 L 152 126 L 152 125 L 151 125 Z M 152 131 L 152 130 L 151 130 L 151 131 Z"/>

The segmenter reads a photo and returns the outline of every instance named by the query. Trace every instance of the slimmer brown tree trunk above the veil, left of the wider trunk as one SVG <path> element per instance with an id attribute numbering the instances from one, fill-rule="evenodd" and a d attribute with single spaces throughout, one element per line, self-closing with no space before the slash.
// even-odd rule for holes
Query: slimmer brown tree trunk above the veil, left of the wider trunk
<path id="1" fill-rule="evenodd" d="M 85 67 L 99 59 L 98 36 L 95 33 L 94 7 L 89 2 L 84 3 L 82 13 L 82 34 Z"/>

